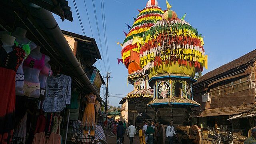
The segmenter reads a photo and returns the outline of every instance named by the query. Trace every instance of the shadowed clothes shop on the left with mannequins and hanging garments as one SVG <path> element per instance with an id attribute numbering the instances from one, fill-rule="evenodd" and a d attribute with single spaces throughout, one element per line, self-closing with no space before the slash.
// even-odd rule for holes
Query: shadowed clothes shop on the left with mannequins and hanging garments
<path id="1" fill-rule="evenodd" d="M 54 9 L 43 2 L 0 2 L 0 144 L 39 144 L 46 139 L 66 144 L 70 120 L 80 120 L 84 133 L 95 134 L 100 106 L 94 103 L 102 102 L 104 81 L 93 63 L 72 52 L 49 11 L 62 10 L 59 16 L 72 20 L 68 2 Z M 93 46 L 97 55 L 90 58 L 95 63 L 101 59 L 96 42 L 84 39 L 76 47 L 79 56 Z M 86 123 L 88 118 L 92 123 Z"/>

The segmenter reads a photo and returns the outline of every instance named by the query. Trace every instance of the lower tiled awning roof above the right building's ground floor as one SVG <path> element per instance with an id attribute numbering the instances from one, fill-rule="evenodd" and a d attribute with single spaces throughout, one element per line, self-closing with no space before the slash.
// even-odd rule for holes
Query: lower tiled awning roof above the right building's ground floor
<path id="1" fill-rule="evenodd" d="M 225 115 L 233 115 L 233 114 L 241 114 L 243 112 L 248 112 L 256 107 L 256 103 L 254 104 L 244 104 L 240 106 L 229 106 L 224 108 L 212 108 L 207 110 L 196 110 L 193 111 L 191 116 L 195 117 L 206 117 L 206 116 L 225 116 Z"/>

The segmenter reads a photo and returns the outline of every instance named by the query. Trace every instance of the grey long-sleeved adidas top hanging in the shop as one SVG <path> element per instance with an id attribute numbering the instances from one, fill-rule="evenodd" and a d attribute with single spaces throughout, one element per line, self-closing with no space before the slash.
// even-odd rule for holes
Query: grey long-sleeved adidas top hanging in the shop
<path id="1" fill-rule="evenodd" d="M 70 104 L 71 77 L 62 74 L 51 76 L 46 80 L 45 100 L 42 102 L 44 112 L 61 112 Z"/>

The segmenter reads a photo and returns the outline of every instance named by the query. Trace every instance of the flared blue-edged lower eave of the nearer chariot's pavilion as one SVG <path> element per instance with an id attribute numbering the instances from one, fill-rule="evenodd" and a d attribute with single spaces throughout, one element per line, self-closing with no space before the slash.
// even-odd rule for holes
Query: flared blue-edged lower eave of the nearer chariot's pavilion
<path id="1" fill-rule="evenodd" d="M 196 101 L 189 100 L 187 98 L 160 98 L 160 99 L 154 99 L 151 102 L 149 102 L 147 105 L 165 105 L 165 104 L 184 104 L 184 105 L 194 105 L 194 106 L 200 106 Z"/>

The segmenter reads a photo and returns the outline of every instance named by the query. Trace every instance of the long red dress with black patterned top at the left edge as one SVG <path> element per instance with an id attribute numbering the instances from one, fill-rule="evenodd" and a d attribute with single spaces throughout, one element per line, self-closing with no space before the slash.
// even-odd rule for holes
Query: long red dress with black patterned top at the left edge
<path id="1" fill-rule="evenodd" d="M 7 53 L 0 41 L 0 144 L 10 142 L 15 109 L 15 75 L 25 57 L 25 51 L 13 46 Z"/>

